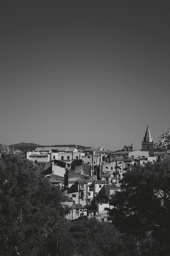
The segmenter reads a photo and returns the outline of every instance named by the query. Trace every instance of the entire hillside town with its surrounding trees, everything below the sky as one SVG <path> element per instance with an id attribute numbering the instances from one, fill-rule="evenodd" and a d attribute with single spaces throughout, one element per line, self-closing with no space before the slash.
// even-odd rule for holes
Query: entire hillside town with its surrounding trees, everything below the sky
<path id="1" fill-rule="evenodd" d="M 158 142 L 148 125 L 136 150 L 0 144 L 1 255 L 169 256 L 169 129 Z"/>

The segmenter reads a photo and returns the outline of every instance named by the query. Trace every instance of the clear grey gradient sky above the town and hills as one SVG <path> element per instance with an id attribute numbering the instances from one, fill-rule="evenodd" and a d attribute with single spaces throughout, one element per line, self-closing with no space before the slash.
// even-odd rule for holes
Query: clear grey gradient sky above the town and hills
<path id="1" fill-rule="evenodd" d="M 141 149 L 170 128 L 169 0 L 1 0 L 0 143 Z"/>

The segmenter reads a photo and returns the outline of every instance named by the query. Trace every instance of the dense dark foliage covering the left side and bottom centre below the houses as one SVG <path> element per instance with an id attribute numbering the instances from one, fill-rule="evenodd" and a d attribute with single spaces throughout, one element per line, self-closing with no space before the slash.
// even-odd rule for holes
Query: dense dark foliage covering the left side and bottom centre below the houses
<path id="1" fill-rule="evenodd" d="M 60 243 L 62 256 L 133 255 L 133 238 L 111 223 L 67 221 L 64 200 L 61 188 L 39 175 L 33 162 L 1 147 L 0 255 L 46 256 L 49 241 Z"/>

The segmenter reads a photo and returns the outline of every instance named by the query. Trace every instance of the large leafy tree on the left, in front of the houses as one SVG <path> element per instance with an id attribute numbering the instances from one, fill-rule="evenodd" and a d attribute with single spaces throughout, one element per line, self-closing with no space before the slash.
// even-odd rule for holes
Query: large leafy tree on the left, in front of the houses
<path id="1" fill-rule="evenodd" d="M 65 196 L 37 173 L 33 162 L 0 157 L 0 255 L 47 255 L 47 242 L 60 241 L 66 226 Z"/>

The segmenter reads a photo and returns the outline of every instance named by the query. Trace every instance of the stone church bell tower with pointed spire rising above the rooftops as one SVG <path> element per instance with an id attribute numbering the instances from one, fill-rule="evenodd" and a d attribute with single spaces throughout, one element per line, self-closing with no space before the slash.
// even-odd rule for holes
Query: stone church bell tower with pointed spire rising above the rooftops
<path id="1" fill-rule="evenodd" d="M 149 125 L 147 126 L 147 130 L 145 132 L 145 137 L 142 140 L 142 151 L 149 151 L 149 156 L 154 156 L 154 141 L 150 136 Z"/>

